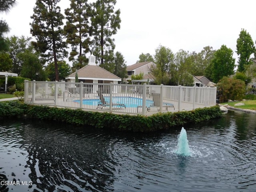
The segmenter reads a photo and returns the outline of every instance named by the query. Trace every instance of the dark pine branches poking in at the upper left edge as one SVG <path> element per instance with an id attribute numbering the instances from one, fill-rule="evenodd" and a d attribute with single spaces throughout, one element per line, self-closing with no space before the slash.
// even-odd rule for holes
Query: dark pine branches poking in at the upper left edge
<path id="1" fill-rule="evenodd" d="M 8 12 L 16 3 L 16 0 L 0 0 L 0 12 Z M 8 24 L 0 20 L 0 51 L 8 50 L 8 43 L 4 39 L 4 33 L 9 31 Z"/>

